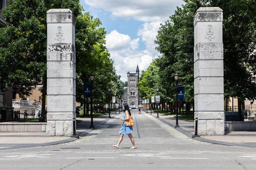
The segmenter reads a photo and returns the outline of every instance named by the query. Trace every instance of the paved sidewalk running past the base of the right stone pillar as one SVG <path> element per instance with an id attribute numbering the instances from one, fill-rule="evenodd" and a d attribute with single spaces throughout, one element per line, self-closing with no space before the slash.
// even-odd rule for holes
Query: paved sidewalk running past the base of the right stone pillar
<path id="1" fill-rule="evenodd" d="M 150 111 L 148 111 L 147 114 L 150 114 Z M 160 121 L 174 128 L 176 124 L 175 115 L 163 115 L 163 114 L 158 114 L 158 115 L 159 115 L 158 119 Z M 152 116 L 156 118 L 157 113 L 152 111 Z M 194 122 L 188 122 L 188 121 L 179 119 L 179 126 L 180 128 L 176 128 L 176 130 L 192 138 L 192 135 L 194 135 Z M 219 145 L 256 148 L 256 132 L 255 131 L 250 131 L 250 132 L 249 131 L 232 131 L 232 132 L 225 132 L 225 133 L 226 135 L 222 135 L 222 136 L 200 136 L 200 137 L 195 137 L 193 139 L 214 143 L 214 144 L 219 144 Z"/>

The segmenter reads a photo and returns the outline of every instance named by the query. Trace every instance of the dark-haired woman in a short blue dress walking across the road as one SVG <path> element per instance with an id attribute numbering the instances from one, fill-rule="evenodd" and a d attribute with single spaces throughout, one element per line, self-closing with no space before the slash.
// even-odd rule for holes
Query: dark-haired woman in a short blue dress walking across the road
<path id="1" fill-rule="evenodd" d="M 123 137 L 125 134 L 128 135 L 128 137 L 130 138 L 131 140 L 131 143 L 132 143 L 132 147 L 129 148 L 129 149 L 137 149 L 137 147 L 135 146 L 135 143 L 134 143 L 134 139 L 132 137 L 132 126 L 126 126 L 125 125 L 125 121 L 126 120 L 129 120 L 129 116 L 131 116 L 131 112 L 130 112 L 130 109 L 129 109 L 129 105 L 128 104 L 124 104 L 124 107 L 123 107 L 123 111 L 124 111 L 124 118 L 120 118 L 121 120 L 123 120 L 123 126 L 121 127 L 119 133 L 120 133 L 120 137 L 119 137 L 119 140 L 117 142 L 117 145 L 113 145 L 113 147 L 115 148 L 119 148 L 119 145 L 120 143 L 122 142 L 123 140 Z"/>

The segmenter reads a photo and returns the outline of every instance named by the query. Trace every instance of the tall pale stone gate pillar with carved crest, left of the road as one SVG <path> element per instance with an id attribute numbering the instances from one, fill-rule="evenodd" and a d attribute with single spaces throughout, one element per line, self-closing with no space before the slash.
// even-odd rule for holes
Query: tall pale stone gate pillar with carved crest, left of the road
<path id="1" fill-rule="evenodd" d="M 47 136 L 71 136 L 75 114 L 75 17 L 47 11 Z"/>

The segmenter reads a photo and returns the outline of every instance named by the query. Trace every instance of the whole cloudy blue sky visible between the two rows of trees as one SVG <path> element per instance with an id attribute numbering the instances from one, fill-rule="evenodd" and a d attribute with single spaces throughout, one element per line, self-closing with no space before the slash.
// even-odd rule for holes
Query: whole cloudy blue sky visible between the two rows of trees
<path id="1" fill-rule="evenodd" d="M 97 17 L 105 28 L 106 47 L 121 80 L 145 70 L 159 54 L 154 43 L 160 27 L 182 0 L 81 0 L 85 12 Z"/>

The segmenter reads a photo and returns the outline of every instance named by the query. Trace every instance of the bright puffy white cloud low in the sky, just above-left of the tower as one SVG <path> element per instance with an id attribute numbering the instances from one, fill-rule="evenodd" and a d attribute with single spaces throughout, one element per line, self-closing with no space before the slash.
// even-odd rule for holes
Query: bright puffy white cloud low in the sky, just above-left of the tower
<path id="1" fill-rule="evenodd" d="M 140 71 L 145 70 L 154 58 L 147 50 L 136 50 L 139 39 L 131 39 L 129 35 L 120 34 L 116 30 L 106 35 L 106 47 L 114 60 L 116 72 L 121 75 L 123 81 L 127 81 L 128 71 L 136 71 L 137 64 Z"/>

